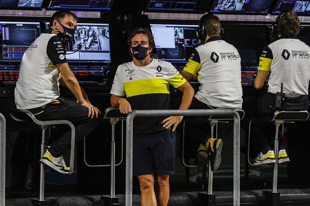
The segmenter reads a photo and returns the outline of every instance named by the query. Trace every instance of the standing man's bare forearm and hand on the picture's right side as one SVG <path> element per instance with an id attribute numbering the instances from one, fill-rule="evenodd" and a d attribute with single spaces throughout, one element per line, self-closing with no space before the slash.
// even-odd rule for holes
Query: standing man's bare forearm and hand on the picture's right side
<path id="1" fill-rule="evenodd" d="M 185 82 L 182 86 L 178 87 L 178 90 L 183 92 L 182 102 L 180 104 L 179 109 L 188 109 L 194 96 L 193 87 L 188 82 Z M 163 127 L 168 129 L 171 125 L 174 124 L 172 131 L 175 131 L 176 127 L 178 126 L 178 124 L 181 122 L 182 119 L 183 116 L 170 116 L 162 121 L 162 123 L 165 123 Z"/>

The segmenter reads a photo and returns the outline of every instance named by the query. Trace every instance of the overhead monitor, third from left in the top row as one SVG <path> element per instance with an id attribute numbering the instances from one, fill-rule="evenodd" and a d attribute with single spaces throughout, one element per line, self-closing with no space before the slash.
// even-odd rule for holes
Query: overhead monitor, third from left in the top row
<path id="1" fill-rule="evenodd" d="M 209 0 L 148 0 L 144 11 L 204 14 L 207 10 L 208 4 Z"/>

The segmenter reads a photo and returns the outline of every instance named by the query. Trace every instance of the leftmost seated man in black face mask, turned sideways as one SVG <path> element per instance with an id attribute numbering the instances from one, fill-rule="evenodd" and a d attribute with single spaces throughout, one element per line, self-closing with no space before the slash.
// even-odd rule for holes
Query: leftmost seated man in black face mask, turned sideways
<path id="1" fill-rule="evenodd" d="M 66 44 L 74 36 L 77 20 L 69 10 L 52 15 L 50 29 L 45 30 L 24 53 L 15 88 L 18 109 L 29 110 L 38 120 L 71 121 L 75 126 L 76 142 L 100 123 L 100 111 L 89 102 L 66 59 Z M 69 88 L 76 99 L 61 97 L 59 85 Z M 62 155 L 70 145 L 71 131 L 53 142 L 40 162 L 57 172 L 68 173 L 69 167 Z"/>

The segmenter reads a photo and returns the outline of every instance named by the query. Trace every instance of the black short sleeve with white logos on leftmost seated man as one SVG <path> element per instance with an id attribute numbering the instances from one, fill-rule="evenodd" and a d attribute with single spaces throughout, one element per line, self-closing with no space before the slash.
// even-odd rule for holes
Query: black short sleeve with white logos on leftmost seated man
<path id="1" fill-rule="evenodd" d="M 64 45 L 58 36 L 52 36 L 47 43 L 46 53 L 54 65 L 67 63 Z"/>

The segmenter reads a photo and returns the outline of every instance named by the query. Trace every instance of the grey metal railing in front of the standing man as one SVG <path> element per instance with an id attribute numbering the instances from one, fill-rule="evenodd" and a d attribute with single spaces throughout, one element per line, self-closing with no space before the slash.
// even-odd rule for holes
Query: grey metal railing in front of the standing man
<path id="1" fill-rule="evenodd" d="M 233 109 L 134 110 L 126 119 L 126 206 L 132 205 L 132 135 L 136 116 L 233 116 L 233 205 L 240 205 L 240 117 Z"/>

